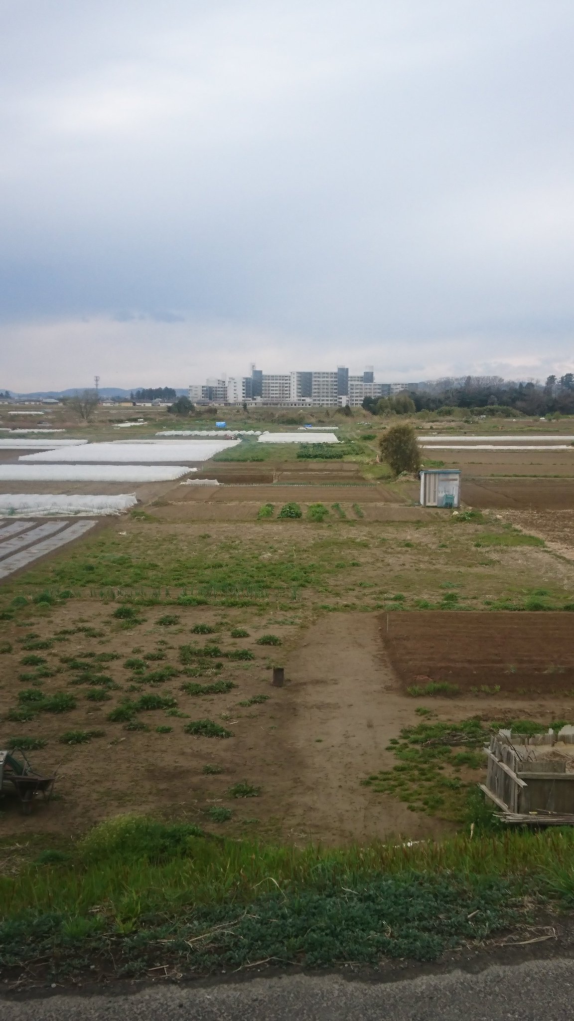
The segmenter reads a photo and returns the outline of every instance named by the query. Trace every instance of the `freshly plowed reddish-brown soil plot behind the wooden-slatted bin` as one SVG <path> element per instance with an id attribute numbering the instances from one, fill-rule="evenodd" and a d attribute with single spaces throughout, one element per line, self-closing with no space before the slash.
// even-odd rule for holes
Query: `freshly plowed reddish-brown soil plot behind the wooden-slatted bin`
<path id="1" fill-rule="evenodd" d="M 382 635 L 404 687 L 448 681 L 463 691 L 483 685 L 536 694 L 574 688 L 569 613 L 388 614 Z"/>

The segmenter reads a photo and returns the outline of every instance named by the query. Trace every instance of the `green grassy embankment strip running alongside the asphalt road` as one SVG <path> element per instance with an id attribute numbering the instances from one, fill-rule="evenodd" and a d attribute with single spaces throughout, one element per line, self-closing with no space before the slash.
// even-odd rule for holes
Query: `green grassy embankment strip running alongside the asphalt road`
<path id="1" fill-rule="evenodd" d="M 1 961 L 61 979 L 433 960 L 569 905 L 573 850 L 571 830 L 323 850 L 125 817 L 0 879 Z"/>

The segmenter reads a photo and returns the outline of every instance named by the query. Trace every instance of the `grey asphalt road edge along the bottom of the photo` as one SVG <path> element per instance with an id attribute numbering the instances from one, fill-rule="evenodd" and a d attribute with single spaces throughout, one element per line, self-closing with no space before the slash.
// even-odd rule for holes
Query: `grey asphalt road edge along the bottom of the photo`
<path id="1" fill-rule="evenodd" d="M 290 975 L 133 993 L 0 1001 L 0 1021 L 572 1021 L 574 961 L 496 965 L 393 982 Z"/>

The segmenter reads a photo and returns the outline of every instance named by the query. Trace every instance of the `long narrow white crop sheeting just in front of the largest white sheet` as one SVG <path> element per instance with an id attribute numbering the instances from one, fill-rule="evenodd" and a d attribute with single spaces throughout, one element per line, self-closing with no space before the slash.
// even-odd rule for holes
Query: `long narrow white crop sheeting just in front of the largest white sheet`
<path id="1" fill-rule="evenodd" d="M 184 465 L 0 465 L 0 482 L 169 482 Z"/>

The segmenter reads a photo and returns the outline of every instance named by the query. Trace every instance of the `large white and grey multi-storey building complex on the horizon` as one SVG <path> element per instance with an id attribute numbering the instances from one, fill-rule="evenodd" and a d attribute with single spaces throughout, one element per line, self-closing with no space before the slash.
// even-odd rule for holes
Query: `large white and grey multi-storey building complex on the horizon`
<path id="1" fill-rule="evenodd" d="M 335 372 L 277 374 L 264 373 L 252 366 L 250 376 L 208 379 L 205 384 L 190 386 L 189 399 L 194 403 L 358 407 L 365 397 L 389 397 L 414 388 L 414 383 L 375 383 L 372 367 L 360 376 L 351 376 L 344 366 Z"/>

